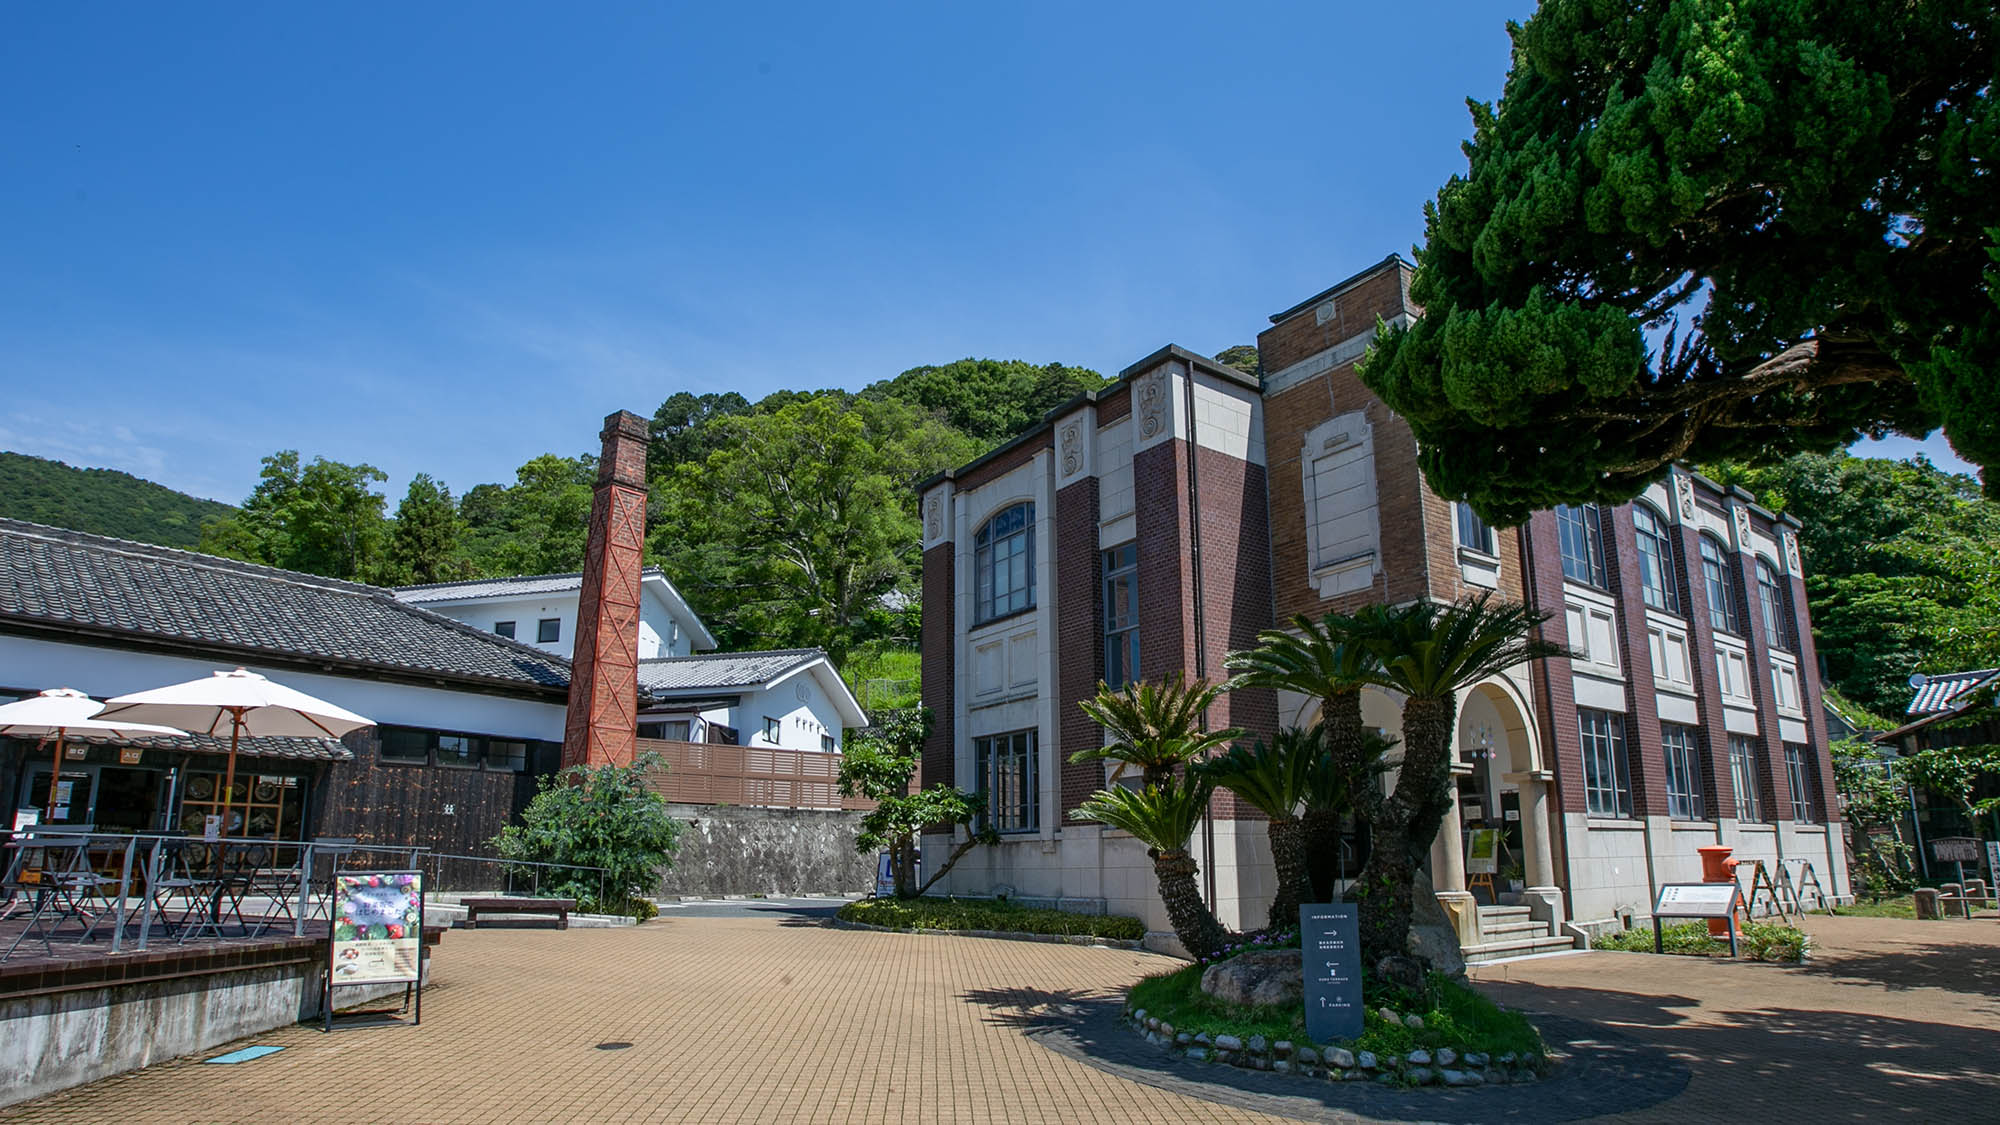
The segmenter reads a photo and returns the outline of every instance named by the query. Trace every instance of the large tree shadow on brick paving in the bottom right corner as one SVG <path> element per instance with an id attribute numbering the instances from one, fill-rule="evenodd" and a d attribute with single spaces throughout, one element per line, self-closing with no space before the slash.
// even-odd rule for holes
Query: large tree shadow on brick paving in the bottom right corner
<path id="1" fill-rule="evenodd" d="M 1484 981 L 1528 1013 L 1610 1025 L 1686 1061 L 1686 1093 L 1632 1121 L 1734 1119 L 1776 1109 L 1784 1121 L 1992 1119 L 2000 1079 L 1992 1029 L 1812 1009 L 1712 1013 L 1688 997 Z"/>

